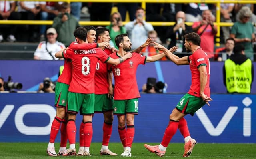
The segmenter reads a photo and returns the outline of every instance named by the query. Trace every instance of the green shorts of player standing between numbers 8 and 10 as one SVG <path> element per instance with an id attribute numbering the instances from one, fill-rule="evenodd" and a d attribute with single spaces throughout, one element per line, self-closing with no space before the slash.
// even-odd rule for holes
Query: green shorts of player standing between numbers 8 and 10
<path id="1" fill-rule="evenodd" d="M 95 94 L 94 112 L 102 113 L 113 110 L 113 99 L 108 98 L 108 94 Z"/>

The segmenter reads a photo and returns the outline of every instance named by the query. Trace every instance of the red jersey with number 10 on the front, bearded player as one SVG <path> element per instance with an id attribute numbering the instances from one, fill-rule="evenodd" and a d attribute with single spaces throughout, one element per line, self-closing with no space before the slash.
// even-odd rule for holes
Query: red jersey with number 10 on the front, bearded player
<path id="1" fill-rule="evenodd" d="M 117 53 L 110 54 L 111 58 L 120 58 Z M 126 100 L 139 98 L 140 93 L 138 90 L 136 71 L 139 64 L 146 63 L 146 56 L 138 53 L 133 53 L 132 57 L 125 60 L 116 66 L 111 65 L 109 70 L 112 69 L 115 78 L 114 99 Z"/>

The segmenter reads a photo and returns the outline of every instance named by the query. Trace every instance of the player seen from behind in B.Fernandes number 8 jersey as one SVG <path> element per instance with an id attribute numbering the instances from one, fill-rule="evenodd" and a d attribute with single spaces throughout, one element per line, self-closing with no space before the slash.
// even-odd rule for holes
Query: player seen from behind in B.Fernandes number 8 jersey
<path id="1" fill-rule="evenodd" d="M 78 43 L 85 43 L 86 29 L 80 27 L 75 30 L 74 36 Z M 79 44 L 76 44 L 79 45 Z M 75 44 L 74 44 L 75 46 Z M 80 111 L 83 115 L 85 147 L 84 155 L 90 156 L 89 147 L 92 140 L 92 115 L 94 114 L 94 75 L 98 60 L 110 64 L 118 65 L 124 60 L 131 58 L 129 52 L 121 58 L 112 59 L 100 48 L 90 50 L 72 50 L 68 48 L 64 52 L 57 52 L 55 57 L 63 57 L 72 60 L 72 79 L 68 89 L 68 107 L 67 107 L 67 134 L 70 148 L 63 156 L 75 155 L 76 148 L 76 114 Z"/>

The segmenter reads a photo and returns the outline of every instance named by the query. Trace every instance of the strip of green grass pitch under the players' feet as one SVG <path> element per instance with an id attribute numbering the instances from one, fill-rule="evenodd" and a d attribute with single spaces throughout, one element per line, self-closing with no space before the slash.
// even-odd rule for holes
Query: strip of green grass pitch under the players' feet
<path id="1" fill-rule="evenodd" d="M 156 145 L 159 143 L 148 143 Z M 45 158 L 67 158 L 67 157 L 50 157 L 46 155 L 48 143 L 0 143 L 0 159 L 45 159 Z M 150 153 L 144 148 L 144 143 L 132 144 L 132 157 L 134 159 L 158 159 L 154 153 Z M 58 153 L 59 143 L 55 143 L 56 152 Z M 79 143 L 76 143 L 78 151 Z M 184 152 L 183 143 L 170 143 L 164 158 L 182 159 Z M 102 156 L 100 155 L 101 143 L 92 143 L 90 147 L 92 159 L 124 159 L 120 154 L 123 152 L 121 143 L 110 143 L 109 149 L 119 156 Z M 191 159 L 256 159 L 256 144 L 248 143 L 198 143 L 189 158 Z M 71 158 L 81 158 L 81 156 L 70 156 Z M 69 158 L 70 158 L 69 157 Z M 85 157 L 82 157 L 85 158 Z"/>

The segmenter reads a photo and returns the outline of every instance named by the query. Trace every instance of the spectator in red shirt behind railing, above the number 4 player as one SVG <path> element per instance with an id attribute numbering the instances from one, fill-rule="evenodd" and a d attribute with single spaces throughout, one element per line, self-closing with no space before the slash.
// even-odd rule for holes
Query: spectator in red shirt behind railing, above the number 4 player
<path id="1" fill-rule="evenodd" d="M 204 10 L 202 18 L 200 22 L 194 22 L 192 28 L 201 38 L 201 48 L 210 60 L 214 60 L 214 36 L 217 33 L 217 26 L 213 24 L 215 18 L 210 10 Z"/>

